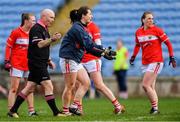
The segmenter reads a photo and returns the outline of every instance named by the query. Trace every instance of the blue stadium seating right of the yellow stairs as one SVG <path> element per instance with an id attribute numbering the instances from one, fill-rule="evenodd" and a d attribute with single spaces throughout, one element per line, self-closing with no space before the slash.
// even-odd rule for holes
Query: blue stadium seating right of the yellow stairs
<path id="1" fill-rule="evenodd" d="M 180 57 L 180 1 L 179 0 L 100 0 L 100 3 L 93 8 L 94 21 L 100 26 L 102 40 L 105 46 L 116 47 L 117 39 L 123 39 L 130 55 L 134 47 L 134 33 L 141 25 L 140 18 L 144 11 L 152 11 L 155 14 L 155 23 L 162 27 L 174 46 L 174 53 L 177 61 Z M 169 56 L 166 46 L 163 44 L 163 55 L 165 67 L 161 75 L 180 75 L 177 69 L 168 66 Z M 135 66 L 130 67 L 128 75 L 141 75 L 141 53 L 138 55 Z M 111 76 L 113 72 L 111 61 L 103 59 L 103 75 Z M 109 72 L 106 72 L 109 71 Z M 138 72 L 137 72 L 138 71 Z"/>

